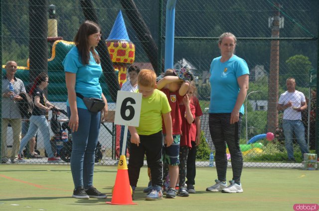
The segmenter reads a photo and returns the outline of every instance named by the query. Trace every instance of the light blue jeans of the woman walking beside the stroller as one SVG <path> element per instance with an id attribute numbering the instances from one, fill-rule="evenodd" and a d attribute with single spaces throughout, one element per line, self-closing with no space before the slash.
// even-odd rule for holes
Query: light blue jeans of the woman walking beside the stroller
<path id="1" fill-rule="evenodd" d="M 54 157 L 51 144 L 50 144 L 50 131 L 49 131 L 49 124 L 48 121 L 46 121 L 46 118 L 44 115 L 41 116 L 34 116 L 32 115 L 29 119 L 30 125 L 28 132 L 23 137 L 20 143 L 20 149 L 19 149 L 19 155 L 22 154 L 22 150 L 25 147 L 25 145 L 29 142 L 29 140 L 32 137 L 35 137 L 35 134 L 37 130 L 39 129 L 43 135 L 44 140 L 44 148 L 46 150 L 46 153 L 48 154 L 49 158 Z"/>

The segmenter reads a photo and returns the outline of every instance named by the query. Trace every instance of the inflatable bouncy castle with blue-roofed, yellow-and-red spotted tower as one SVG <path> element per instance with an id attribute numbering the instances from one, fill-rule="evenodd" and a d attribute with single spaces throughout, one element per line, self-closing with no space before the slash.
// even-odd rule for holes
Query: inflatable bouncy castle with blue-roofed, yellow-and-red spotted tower
<path id="1" fill-rule="evenodd" d="M 48 35 L 52 34 L 49 31 Z M 55 33 L 56 35 L 57 33 Z M 102 40 L 101 40 L 102 41 Z M 71 41 L 63 40 L 62 37 L 49 37 L 48 42 L 51 45 L 51 57 L 48 58 L 48 76 L 50 85 L 48 86 L 48 98 L 52 102 L 66 102 L 67 90 L 65 86 L 65 73 L 62 61 L 69 50 L 74 46 Z M 120 86 L 126 81 L 126 70 L 128 65 L 135 60 L 135 45 L 130 41 L 127 29 L 124 23 L 122 12 L 120 11 L 113 25 L 110 36 L 105 41 L 108 46 L 115 73 L 118 75 L 118 83 Z M 5 74 L 5 65 L 2 65 L 2 75 Z M 29 81 L 29 62 L 27 66 L 18 66 L 15 76 L 20 78 L 24 85 L 32 82 Z M 112 87 L 106 82 L 105 75 L 102 74 L 100 83 L 103 93 L 108 102 L 113 102 L 109 90 Z"/>

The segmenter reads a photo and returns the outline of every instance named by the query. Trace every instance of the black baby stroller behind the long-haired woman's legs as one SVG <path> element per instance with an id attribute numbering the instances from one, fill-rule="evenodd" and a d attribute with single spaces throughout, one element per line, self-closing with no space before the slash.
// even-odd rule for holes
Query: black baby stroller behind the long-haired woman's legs
<path id="1" fill-rule="evenodd" d="M 69 121 L 63 122 L 62 125 L 58 120 L 57 112 L 61 112 L 65 116 L 67 113 L 64 110 L 59 110 L 56 108 L 52 108 L 52 118 L 51 118 L 51 130 L 54 133 L 54 137 L 52 137 L 51 147 L 53 153 L 56 152 L 57 156 L 60 156 L 62 161 L 69 163 L 71 159 L 72 153 L 72 133 L 68 124 Z M 66 133 L 68 131 L 68 133 Z M 95 148 L 95 163 L 98 163 L 102 160 L 102 151 L 101 151 L 100 142 L 97 143 Z M 54 149 L 54 150 L 53 150 Z"/>

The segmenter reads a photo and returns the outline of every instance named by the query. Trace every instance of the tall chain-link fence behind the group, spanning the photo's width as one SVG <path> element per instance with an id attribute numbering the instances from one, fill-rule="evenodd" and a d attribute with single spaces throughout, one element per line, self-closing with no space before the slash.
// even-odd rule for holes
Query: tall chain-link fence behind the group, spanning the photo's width
<path id="1" fill-rule="evenodd" d="M 25 86 L 32 83 L 39 72 L 47 72 L 50 81 L 46 90 L 48 100 L 66 110 L 67 92 L 62 61 L 73 46 L 79 25 L 91 18 L 100 24 L 103 34 L 100 44 L 108 47 L 105 54 L 113 62 L 112 71 L 104 69 L 101 85 L 109 109 L 115 110 L 116 98 L 112 93 L 116 93 L 127 80 L 129 65 L 153 69 L 158 74 L 163 71 L 166 3 L 166 0 L 2 0 L 2 75 L 6 74 L 4 64 L 9 60 L 17 62 L 15 76 Z M 250 70 L 246 113 L 240 136 L 245 166 L 302 167 L 303 158 L 295 138 L 296 163 L 287 163 L 283 113 L 277 111 L 279 96 L 287 90 L 288 77 L 296 79 L 296 89 L 307 98 L 310 112 L 302 112 L 302 121 L 310 151 L 315 153 L 316 87 L 309 83 L 310 71 L 317 69 L 318 9 L 316 0 L 177 0 L 174 68 L 188 66 L 194 73 L 197 97 L 204 113 L 201 117 L 203 133 L 198 149 L 201 155 L 197 157 L 198 166 L 207 166 L 209 152 L 214 151 L 207 113 L 210 101 L 209 67 L 211 60 L 220 56 L 217 40 L 226 31 L 237 36 L 235 54 L 246 60 Z M 34 14 L 37 11 L 42 11 L 45 21 Z M 114 31 L 116 36 L 113 36 Z M 2 93 L 7 91 L 3 84 Z M 2 96 L 1 102 L 4 102 L 3 99 Z M 51 117 L 52 112 L 49 112 L 48 119 Z M 58 119 L 63 125 L 67 116 L 60 114 Z M 7 137 L 1 141 L 1 152 L 5 149 L 1 157 L 9 158 L 13 143 L 12 129 L 2 124 L 3 131 Z M 247 144 L 251 138 L 267 132 L 273 132 L 275 139 L 268 141 L 264 138 L 254 145 Z M 62 139 L 50 130 L 52 147 L 57 155 L 63 148 L 70 147 L 71 134 L 67 130 L 66 134 L 69 138 Z M 114 125 L 110 115 L 109 121 L 101 124 L 98 164 L 116 163 L 119 139 L 120 127 Z M 24 157 L 30 159 L 25 161 L 46 163 L 41 133 L 37 134 L 36 143 L 36 152 L 41 158 L 30 158 L 26 149 Z"/>

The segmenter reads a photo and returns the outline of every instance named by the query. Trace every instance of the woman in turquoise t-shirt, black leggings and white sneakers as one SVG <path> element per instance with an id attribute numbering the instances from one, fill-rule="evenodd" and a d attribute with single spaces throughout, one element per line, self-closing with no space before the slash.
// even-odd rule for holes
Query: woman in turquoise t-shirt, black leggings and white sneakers
<path id="1" fill-rule="evenodd" d="M 221 56 L 210 64 L 209 131 L 215 146 L 215 162 L 218 179 L 208 187 L 208 192 L 241 193 L 240 177 L 243 155 L 239 147 L 240 129 L 244 114 L 243 103 L 247 95 L 249 69 L 244 59 L 234 54 L 236 37 L 225 32 L 219 36 Z M 233 178 L 227 186 L 226 144 L 231 156 Z"/>

